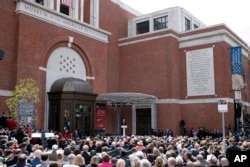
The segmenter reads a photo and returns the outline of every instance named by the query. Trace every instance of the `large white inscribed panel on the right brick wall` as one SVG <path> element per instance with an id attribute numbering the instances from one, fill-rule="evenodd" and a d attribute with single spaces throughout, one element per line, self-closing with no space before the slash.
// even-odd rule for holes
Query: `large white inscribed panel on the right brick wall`
<path id="1" fill-rule="evenodd" d="M 187 96 L 215 94 L 213 48 L 186 52 Z"/>

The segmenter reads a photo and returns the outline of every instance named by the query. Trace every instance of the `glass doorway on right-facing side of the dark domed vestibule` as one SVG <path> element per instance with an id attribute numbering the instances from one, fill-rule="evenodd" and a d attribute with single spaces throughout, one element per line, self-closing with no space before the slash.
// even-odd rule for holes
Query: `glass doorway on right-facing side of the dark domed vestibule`
<path id="1" fill-rule="evenodd" d="M 91 106 L 79 104 L 76 106 L 76 130 L 81 136 L 90 135 Z"/>

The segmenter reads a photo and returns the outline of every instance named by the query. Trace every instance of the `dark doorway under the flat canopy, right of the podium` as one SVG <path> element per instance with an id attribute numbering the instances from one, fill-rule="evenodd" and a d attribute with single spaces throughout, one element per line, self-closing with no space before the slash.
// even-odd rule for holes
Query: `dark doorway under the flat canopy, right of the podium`
<path id="1" fill-rule="evenodd" d="M 136 109 L 136 134 L 151 135 L 151 109 Z"/>

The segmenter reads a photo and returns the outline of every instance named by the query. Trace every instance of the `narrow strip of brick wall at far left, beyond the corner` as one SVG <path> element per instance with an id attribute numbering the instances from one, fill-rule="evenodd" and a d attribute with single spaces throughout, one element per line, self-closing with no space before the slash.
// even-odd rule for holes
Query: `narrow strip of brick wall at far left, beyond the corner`
<path id="1" fill-rule="evenodd" d="M 17 62 L 17 22 L 13 1 L 0 1 L 0 50 L 5 52 L 3 60 L 0 61 L 0 109 L 7 112 L 5 100 L 16 83 Z"/>

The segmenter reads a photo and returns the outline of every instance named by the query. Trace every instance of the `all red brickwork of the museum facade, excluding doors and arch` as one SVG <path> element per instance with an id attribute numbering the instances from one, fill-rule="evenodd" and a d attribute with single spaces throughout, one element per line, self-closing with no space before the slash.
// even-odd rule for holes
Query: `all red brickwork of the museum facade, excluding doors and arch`
<path id="1" fill-rule="evenodd" d="M 24 0 L 23 0 L 24 1 Z M 90 0 L 85 0 L 84 21 L 90 23 Z M 110 0 L 100 0 L 99 28 L 110 33 L 108 43 L 86 35 L 65 29 L 55 24 L 31 17 L 25 13 L 16 13 L 16 2 L 0 1 L 0 49 L 5 51 L 0 61 L 0 90 L 11 91 L 19 79 L 35 79 L 41 90 L 37 109 L 40 113 L 40 127 L 44 127 L 46 110 L 46 73 L 39 67 L 46 67 L 50 54 L 59 46 L 67 47 L 68 37 L 74 37 L 74 49 L 86 65 L 88 80 L 94 93 L 138 92 L 156 96 L 158 99 L 210 99 L 227 97 L 234 99 L 230 71 L 231 43 L 226 40 L 211 41 L 206 44 L 194 44 L 180 47 L 180 39 L 223 30 L 233 45 L 247 45 L 225 25 L 202 28 L 196 31 L 177 33 L 171 29 L 160 32 L 126 38 L 128 20 L 135 17 Z M 198 37 L 200 38 L 200 37 Z M 197 38 L 197 39 L 198 39 Z M 205 40 L 206 37 L 204 37 Z M 215 92 L 213 96 L 187 97 L 186 51 L 213 48 Z M 242 92 L 242 100 L 249 102 L 249 65 L 244 57 L 244 75 L 247 85 Z M 7 112 L 5 100 L 0 96 L 0 110 Z M 188 128 L 206 127 L 209 130 L 221 129 L 221 114 L 217 103 L 156 103 L 157 128 L 165 131 L 173 129 L 179 134 L 179 122 L 185 120 Z M 249 108 L 246 107 L 245 111 Z M 7 112 L 8 113 L 8 112 Z M 121 117 L 127 120 L 128 133 L 132 133 L 132 111 L 125 107 Z M 106 112 L 106 133 L 116 132 L 116 111 L 108 106 Z M 225 114 L 226 125 L 234 125 L 233 104 L 229 103 L 229 112 Z"/>

